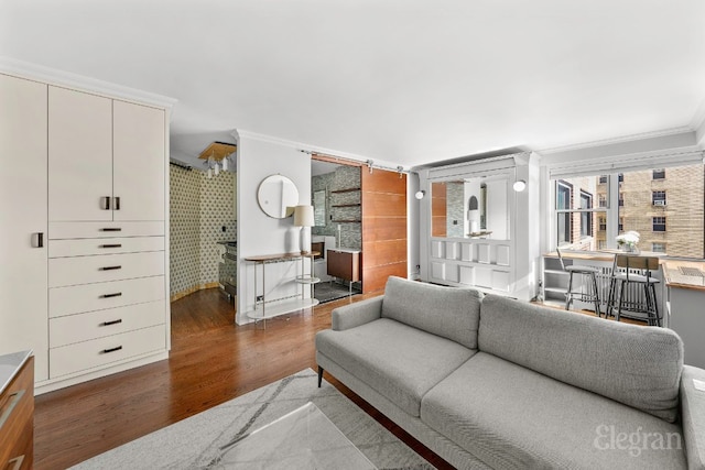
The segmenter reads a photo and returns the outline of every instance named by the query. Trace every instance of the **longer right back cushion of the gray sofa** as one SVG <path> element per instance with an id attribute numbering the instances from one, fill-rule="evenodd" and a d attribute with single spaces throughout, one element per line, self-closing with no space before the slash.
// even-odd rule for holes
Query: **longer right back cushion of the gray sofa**
<path id="1" fill-rule="evenodd" d="M 480 311 L 478 346 L 669 423 L 676 419 L 683 342 L 670 329 L 488 295 Z"/>

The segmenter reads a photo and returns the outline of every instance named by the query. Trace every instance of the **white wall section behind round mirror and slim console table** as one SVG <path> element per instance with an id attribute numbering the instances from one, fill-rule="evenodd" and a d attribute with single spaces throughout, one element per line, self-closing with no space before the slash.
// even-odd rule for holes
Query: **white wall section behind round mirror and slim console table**
<path id="1" fill-rule="evenodd" d="M 238 217 L 238 298 L 236 321 L 249 323 L 246 313 L 254 305 L 254 266 L 248 256 L 286 253 L 299 247 L 297 227 L 293 218 L 273 219 L 259 207 L 257 190 L 269 175 L 281 174 L 294 182 L 299 204 L 311 204 L 311 156 L 292 144 L 267 140 L 246 131 L 237 131 L 237 217 Z M 265 295 L 279 298 L 295 295 L 301 286 L 293 282 L 299 263 L 285 262 L 267 266 Z M 308 270 L 308 266 L 306 266 Z M 308 271 L 307 271 L 308 272 Z M 284 281 L 282 281 L 284 280 Z M 258 266 L 258 294 L 261 295 L 261 266 Z M 308 289 L 304 289 L 307 294 Z M 306 295 L 307 296 L 307 295 Z"/>

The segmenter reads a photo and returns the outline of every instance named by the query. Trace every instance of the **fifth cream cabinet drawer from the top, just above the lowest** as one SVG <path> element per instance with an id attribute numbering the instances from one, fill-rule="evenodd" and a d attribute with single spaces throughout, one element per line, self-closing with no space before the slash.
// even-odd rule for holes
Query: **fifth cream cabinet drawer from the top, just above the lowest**
<path id="1" fill-rule="evenodd" d="M 166 318 L 165 308 L 165 300 L 158 300 L 51 318 L 48 320 L 48 346 L 50 348 L 58 348 L 162 325 Z"/>

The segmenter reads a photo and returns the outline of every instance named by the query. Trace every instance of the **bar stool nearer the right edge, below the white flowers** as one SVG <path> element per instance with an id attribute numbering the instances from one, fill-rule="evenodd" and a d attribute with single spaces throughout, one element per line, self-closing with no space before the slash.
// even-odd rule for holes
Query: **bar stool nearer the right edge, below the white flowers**
<path id="1" fill-rule="evenodd" d="M 605 317 L 607 317 L 608 314 L 611 315 L 615 304 L 617 304 L 617 315 L 615 319 L 619 321 L 622 307 L 626 303 L 629 303 L 634 308 L 630 311 L 644 313 L 647 314 L 647 321 L 650 326 L 661 326 L 661 315 L 659 314 L 655 287 L 661 281 L 651 275 L 652 271 L 658 270 L 659 259 L 657 256 L 615 255 Z M 615 298 L 618 291 L 617 284 L 619 284 L 619 302 Z M 625 299 L 630 285 L 637 285 L 637 289 L 643 288 L 643 303 L 628 302 Z"/>

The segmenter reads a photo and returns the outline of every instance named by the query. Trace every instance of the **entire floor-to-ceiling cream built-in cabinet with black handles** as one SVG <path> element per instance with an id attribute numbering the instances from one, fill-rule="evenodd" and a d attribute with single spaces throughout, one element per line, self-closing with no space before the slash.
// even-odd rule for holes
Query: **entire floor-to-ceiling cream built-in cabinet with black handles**
<path id="1" fill-rule="evenodd" d="M 40 392 L 166 358 L 167 109 L 0 78 L 0 353 Z"/>

